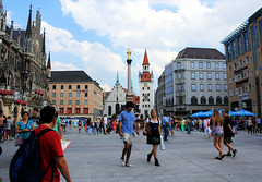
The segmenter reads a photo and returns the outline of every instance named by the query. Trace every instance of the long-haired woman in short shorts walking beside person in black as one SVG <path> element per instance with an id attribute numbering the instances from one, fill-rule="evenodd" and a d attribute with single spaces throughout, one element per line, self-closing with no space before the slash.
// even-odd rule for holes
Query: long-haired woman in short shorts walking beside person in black
<path id="1" fill-rule="evenodd" d="M 217 109 L 214 109 L 214 111 L 213 111 L 211 124 L 213 124 L 213 128 L 212 128 L 212 131 L 211 131 L 211 134 L 209 135 L 209 137 L 214 135 L 214 147 L 219 153 L 218 157 L 216 157 L 215 159 L 222 160 L 225 157 L 225 155 L 223 153 L 223 147 L 222 147 L 222 141 L 223 141 L 223 135 L 224 135 L 224 130 L 223 130 L 224 121 Z"/>

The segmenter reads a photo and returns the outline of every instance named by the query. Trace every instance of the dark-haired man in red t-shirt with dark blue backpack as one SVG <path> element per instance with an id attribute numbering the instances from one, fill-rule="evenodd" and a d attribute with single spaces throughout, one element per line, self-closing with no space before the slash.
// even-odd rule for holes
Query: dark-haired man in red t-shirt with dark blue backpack
<path id="1" fill-rule="evenodd" d="M 59 182 L 58 169 L 67 182 L 71 182 L 68 163 L 62 151 L 61 137 L 51 130 L 57 122 L 57 117 L 55 107 L 46 106 L 40 110 L 40 125 L 20 146 L 11 160 L 11 182 Z"/>

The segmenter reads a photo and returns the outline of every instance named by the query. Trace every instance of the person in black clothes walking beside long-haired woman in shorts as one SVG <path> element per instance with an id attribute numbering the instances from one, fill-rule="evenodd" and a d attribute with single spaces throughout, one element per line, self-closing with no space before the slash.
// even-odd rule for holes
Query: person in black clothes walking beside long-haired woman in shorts
<path id="1" fill-rule="evenodd" d="M 231 146 L 231 137 L 236 134 L 233 128 L 233 120 L 228 117 L 228 110 L 224 111 L 224 144 L 228 148 L 228 153 L 226 156 L 235 157 L 237 154 L 237 149 Z M 233 153 L 233 154 L 231 154 Z"/>

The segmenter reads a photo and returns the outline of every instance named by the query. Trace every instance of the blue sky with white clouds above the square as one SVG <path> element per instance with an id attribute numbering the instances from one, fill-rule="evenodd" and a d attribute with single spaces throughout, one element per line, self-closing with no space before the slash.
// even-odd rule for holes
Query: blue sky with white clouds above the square
<path id="1" fill-rule="evenodd" d="M 132 51 L 132 83 L 146 50 L 154 88 L 165 65 L 186 47 L 216 48 L 262 7 L 261 0 L 2 0 L 8 23 L 25 29 L 41 14 L 52 71 L 84 70 L 105 90 L 127 88 L 127 50 Z M 10 23 L 11 24 L 11 23 Z"/>

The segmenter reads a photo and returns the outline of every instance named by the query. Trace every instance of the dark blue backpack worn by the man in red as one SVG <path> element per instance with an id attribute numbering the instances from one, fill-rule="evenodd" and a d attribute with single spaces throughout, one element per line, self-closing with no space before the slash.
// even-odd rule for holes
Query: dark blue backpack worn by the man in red
<path id="1" fill-rule="evenodd" d="M 39 138 L 50 131 L 53 130 L 44 129 L 37 135 L 35 135 L 35 131 L 33 131 L 29 138 L 20 146 L 10 163 L 9 177 L 11 182 L 40 182 L 50 166 L 55 166 L 55 160 L 51 159 L 45 172 L 41 172 Z"/>

